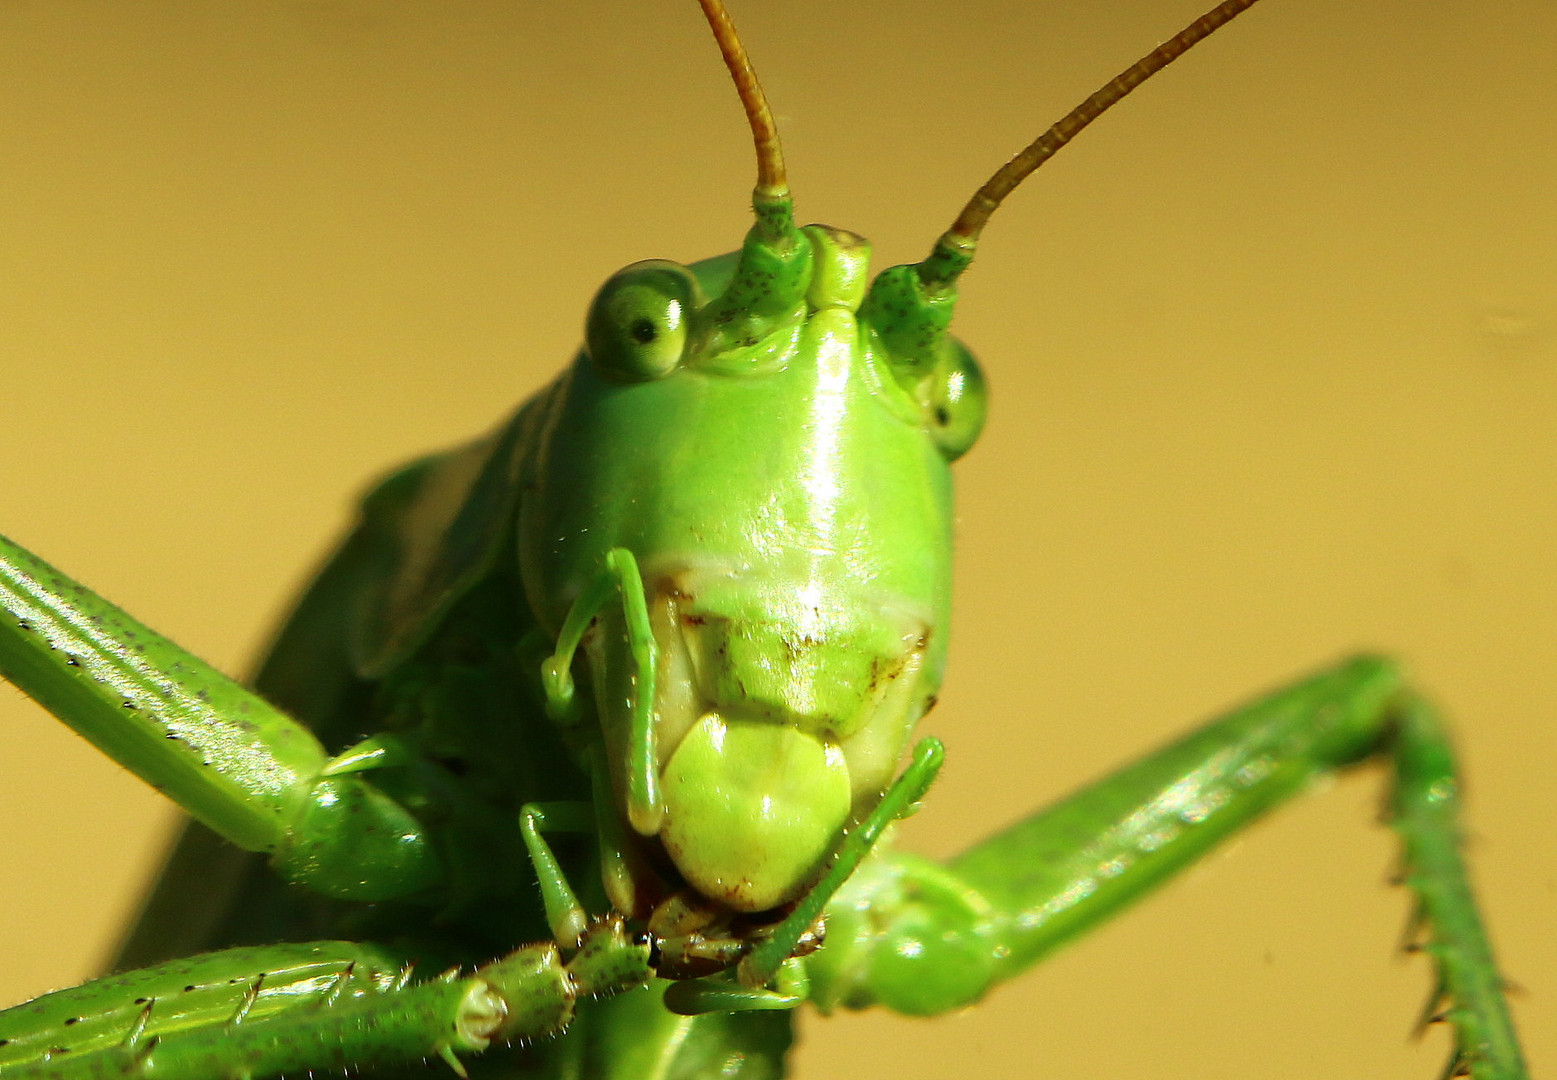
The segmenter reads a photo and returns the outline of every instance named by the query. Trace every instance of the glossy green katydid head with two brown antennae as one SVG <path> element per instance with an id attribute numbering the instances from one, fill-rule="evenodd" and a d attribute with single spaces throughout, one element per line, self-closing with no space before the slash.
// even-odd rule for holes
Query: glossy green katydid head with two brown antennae
<path id="1" fill-rule="evenodd" d="M 744 50 L 719 0 L 699 2 L 757 143 L 757 224 L 736 254 L 635 263 L 601 288 L 534 420 L 520 559 L 557 630 L 612 552 L 631 552 L 646 610 L 606 605 L 584 638 L 621 817 L 649 864 L 763 912 L 796 901 L 881 797 L 940 685 L 948 465 L 984 420 L 978 364 L 948 327 L 984 223 L 1253 0 L 1227 0 L 1095 93 L 923 261 L 873 282 L 863 238 L 796 227 Z M 613 901 L 631 912 L 641 892 Z"/>

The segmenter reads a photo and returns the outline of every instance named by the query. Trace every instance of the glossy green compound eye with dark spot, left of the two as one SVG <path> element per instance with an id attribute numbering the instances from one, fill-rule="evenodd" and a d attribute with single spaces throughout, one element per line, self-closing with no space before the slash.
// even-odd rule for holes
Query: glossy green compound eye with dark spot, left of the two
<path id="1" fill-rule="evenodd" d="M 668 375 L 687 352 L 698 283 L 680 263 L 654 258 L 606 282 L 584 321 L 584 347 L 613 381 L 646 383 Z"/>

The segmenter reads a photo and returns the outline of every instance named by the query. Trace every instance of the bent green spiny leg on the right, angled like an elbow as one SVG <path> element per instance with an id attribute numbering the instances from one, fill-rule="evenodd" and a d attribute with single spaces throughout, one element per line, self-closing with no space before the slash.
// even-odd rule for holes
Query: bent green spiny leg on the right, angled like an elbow
<path id="1" fill-rule="evenodd" d="M 1362 657 L 1258 699 L 947 865 L 881 859 L 833 907 L 811 962 L 824 1008 L 961 1008 L 1190 865 L 1327 772 L 1384 756 L 1390 820 L 1431 957 L 1426 1019 L 1454 1032 L 1450 1074 L 1524 1077 L 1503 979 L 1459 856 L 1446 736 L 1398 668 Z M 1442 1008 L 1442 1015 L 1440 1015 Z"/>

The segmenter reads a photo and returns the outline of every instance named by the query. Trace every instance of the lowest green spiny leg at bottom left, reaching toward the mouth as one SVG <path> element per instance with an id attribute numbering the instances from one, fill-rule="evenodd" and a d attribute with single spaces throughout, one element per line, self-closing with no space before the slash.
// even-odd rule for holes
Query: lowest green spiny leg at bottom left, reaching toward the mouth
<path id="1" fill-rule="evenodd" d="M 649 956 L 620 918 L 590 924 L 567 956 L 545 941 L 416 985 L 408 963 L 343 941 L 227 949 L 0 1013 L 0 1072 L 268 1077 L 438 1057 L 464 1075 L 459 1055 L 556 1035 L 579 999 L 643 988 Z"/>

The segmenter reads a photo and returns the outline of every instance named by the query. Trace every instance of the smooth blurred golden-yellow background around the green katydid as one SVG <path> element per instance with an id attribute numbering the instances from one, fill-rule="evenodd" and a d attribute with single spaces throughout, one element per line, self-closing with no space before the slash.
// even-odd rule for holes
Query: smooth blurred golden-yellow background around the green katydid
<path id="1" fill-rule="evenodd" d="M 738 3 L 803 219 L 917 258 L 1204 0 Z M 1457 722 L 1476 881 L 1557 1072 L 1557 12 L 1274 0 L 996 215 L 959 328 L 950 853 L 1359 646 Z M 0 529 L 243 671 L 353 493 L 494 423 L 593 288 L 733 247 L 688 2 L 0 3 Z M 168 809 L 0 693 L 0 1002 L 87 976 Z M 797 1074 L 1436 1075 L 1364 770 L 967 1015 Z"/>

